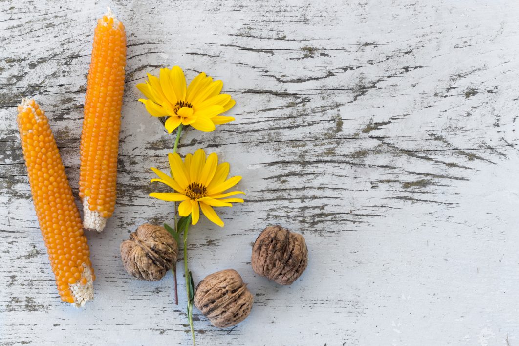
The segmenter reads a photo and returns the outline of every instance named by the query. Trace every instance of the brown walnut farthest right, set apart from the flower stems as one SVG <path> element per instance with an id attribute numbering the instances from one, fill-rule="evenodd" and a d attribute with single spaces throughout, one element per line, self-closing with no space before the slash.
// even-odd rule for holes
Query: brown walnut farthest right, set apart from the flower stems
<path id="1" fill-rule="evenodd" d="M 252 247 L 252 269 L 280 285 L 290 285 L 308 264 L 305 238 L 281 226 L 265 228 Z"/>

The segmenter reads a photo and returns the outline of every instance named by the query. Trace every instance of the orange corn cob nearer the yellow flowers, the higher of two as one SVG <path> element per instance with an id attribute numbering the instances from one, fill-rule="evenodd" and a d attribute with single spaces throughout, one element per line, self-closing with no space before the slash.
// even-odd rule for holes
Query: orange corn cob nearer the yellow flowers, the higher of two
<path id="1" fill-rule="evenodd" d="M 125 27 L 108 8 L 94 32 L 80 149 L 83 225 L 98 232 L 115 208 L 125 63 Z"/>

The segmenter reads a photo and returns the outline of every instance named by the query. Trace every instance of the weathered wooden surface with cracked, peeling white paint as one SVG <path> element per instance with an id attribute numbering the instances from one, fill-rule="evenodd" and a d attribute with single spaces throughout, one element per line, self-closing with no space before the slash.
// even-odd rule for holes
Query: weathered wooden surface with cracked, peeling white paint
<path id="1" fill-rule="evenodd" d="M 88 234 L 95 300 L 63 304 L 32 206 L 15 123 L 35 96 L 75 193 L 95 19 L 128 32 L 118 203 Z M 172 217 L 147 197 L 172 136 L 135 84 L 161 66 L 224 80 L 237 120 L 190 130 L 243 175 L 247 202 L 193 228 L 195 282 L 234 268 L 251 315 L 200 345 L 519 344 L 519 3 L 510 1 L 25 1 L 0 6 L 0 344 L 188 344 L 172 276 L 132 280 L 119 244 Z M 258 277 L 251 243 L 300 231 L 310 261 L 290 287 Z M 179 282 L 182 282 L 182 273 Z"/>

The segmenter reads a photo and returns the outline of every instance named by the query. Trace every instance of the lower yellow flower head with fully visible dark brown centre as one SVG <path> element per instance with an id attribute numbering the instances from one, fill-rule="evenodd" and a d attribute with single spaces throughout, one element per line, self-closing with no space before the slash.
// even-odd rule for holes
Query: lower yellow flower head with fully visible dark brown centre
<path id="1" fill-rule="evenodd" d="M 231 203 L 243 203 L 241 198 L 227 198 L 243 193 L 241 191 L 224 192 L 238 184 L 241 176 L 227 179 L 229 164 L 218 164 L 218 156 L 211 154 L 207 157 L 202 149 L 194 155 L 188 154 L 182 162 L 179 154 L 169 154 L 169 165 L 173 177 L 152 167 L 160 179 L 151 182 L 161 182 L 176 192 L 152 192 L 149 196 L 168 202 L 182 202 L 179 205 L 180 216 L 191 214 L 192 223 L 198 222 L 200 211 L 213 223 L 223 227 L 224 223 L 216 215 L 213 206 L 233 206 Z"/>

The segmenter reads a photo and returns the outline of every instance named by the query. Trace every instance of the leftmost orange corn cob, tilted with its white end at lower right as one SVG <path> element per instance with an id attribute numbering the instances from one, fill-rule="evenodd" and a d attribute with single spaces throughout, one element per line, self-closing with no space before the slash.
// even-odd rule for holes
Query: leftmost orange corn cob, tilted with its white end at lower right
<path id="1" fill-rule="evenodd" d="M 17 122 L 34 209 L 61 300 L 82 307 L 93 298 L 95 275 L 58 146 L 34 100 L 22 99 Z"/>

